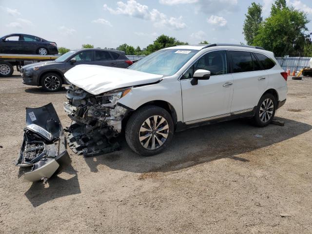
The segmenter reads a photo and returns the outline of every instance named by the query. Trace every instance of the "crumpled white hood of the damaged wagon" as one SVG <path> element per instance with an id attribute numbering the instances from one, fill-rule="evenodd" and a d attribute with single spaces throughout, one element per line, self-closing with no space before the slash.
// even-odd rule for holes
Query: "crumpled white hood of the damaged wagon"
<path id="1" fill-rule="evenodd" d="M 123 87 L 154 83 L 163 78 L 163 75 L 87 64 L 77 65 L 64 75 L 69 83 L 93 95 Z"/>

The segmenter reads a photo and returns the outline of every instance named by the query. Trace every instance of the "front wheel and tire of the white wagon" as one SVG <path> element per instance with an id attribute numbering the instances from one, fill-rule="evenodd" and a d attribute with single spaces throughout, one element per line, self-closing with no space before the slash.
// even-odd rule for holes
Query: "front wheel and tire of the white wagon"
<path id="1" fill-rule="evenodd" d="M 154 117 L 158 131 L 155 129 Z M 142 129 L 151 131 L 140 131 Z M 170 144 L 173 134 L 174 122 L 171 115 L 165 109 L 152 105 L 139 108 L 129 118 L 125 131 L 129 147 L 141 156 L 153 156 L 162 152 Z"/>

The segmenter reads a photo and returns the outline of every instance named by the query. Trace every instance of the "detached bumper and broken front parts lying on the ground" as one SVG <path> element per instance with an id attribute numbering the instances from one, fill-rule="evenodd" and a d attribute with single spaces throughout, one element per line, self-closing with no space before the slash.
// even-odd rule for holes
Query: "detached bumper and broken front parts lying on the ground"
<path id="1" fill-rule="evenodd" d="M 26 127 L 16 160 L 16 166 L 27 167 L 24 181 L 45 181 L 70 163 L 63 128 L 52 103 L 26 108 Z"/>

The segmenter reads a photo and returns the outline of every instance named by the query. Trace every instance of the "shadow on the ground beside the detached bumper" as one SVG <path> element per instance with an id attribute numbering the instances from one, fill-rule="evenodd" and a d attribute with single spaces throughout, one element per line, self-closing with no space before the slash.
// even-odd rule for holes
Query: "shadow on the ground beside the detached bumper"
<path id="1" fill-rule="evenodd" d="M 34 207 L 58 197 L 81 193 L 75 169 L 70 165 L 63 172 L 69 174 L 70 178 L 52 176 L 48 179 L 47 184 L 42 181 L 32 183 L 28 191 L 25 192 L 25 196 Z"/>

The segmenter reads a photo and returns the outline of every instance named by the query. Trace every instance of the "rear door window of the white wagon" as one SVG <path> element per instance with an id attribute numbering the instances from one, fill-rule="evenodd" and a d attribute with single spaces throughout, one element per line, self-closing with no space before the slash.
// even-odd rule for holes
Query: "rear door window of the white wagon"
<path id="1" fill-rule="evenodd" d="M 254 71 L 253 59 L 250 52 L 230 51 L 230 54 L 234 73 Z"/>

